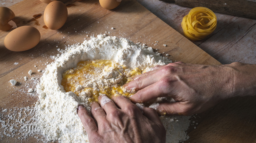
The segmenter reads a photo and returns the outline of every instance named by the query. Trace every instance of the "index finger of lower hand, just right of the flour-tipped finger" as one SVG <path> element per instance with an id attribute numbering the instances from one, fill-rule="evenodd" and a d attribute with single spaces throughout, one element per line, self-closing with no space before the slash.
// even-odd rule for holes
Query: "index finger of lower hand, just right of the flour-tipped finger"
<path id="1" fill-rule="evenodd" d="M 129 100 L 128 98 L 122 95 L 114 95 L 112 96 L 112 99 L 120 109 L 136 106 L 134 103 L 131 102 L 131 100 Z M 139 108 L 138 108 L 138 111 L 139 111 Z"/>

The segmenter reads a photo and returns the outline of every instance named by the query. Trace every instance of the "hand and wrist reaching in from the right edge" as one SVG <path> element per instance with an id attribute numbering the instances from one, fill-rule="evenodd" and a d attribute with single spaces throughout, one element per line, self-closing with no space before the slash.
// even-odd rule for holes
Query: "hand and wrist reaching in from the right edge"
<path id="1" fill-rule="evenodd" d="M 233 96 L 255 94 L 255 65 L 195 65 L 182 62 L 156 66 L 124 85 L 138 90 L 130 100 L 145 103 L 172 97 L 175 103 L 160 103 L 160 115 L 192 115 Z"/>

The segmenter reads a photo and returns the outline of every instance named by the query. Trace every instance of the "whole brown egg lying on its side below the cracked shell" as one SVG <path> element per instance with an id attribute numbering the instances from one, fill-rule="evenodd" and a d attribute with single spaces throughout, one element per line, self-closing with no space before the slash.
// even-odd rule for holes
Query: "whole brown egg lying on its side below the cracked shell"
<path id="1" fill-rule="evenodd" d="M 40 32 L 32 26 L 21 26 L 6 35 L 4 45 L 11 51 L 26 51 L 40 41 Z"/>

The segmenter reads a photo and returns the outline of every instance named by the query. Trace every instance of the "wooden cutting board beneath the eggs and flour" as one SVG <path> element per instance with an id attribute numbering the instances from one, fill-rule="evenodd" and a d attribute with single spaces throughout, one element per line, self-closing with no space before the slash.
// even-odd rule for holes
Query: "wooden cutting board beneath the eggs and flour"
<path id="1" fill-rule="evenodd" d="M 0 111 L 6 108 L 32 106 L 37 101 L 37 95 L 35 92 L 29 95 L 27 90 L 35 89 L 36 82 L 39 82 L 39 79 L 31 80 L 31 77 L 40 78 L 42 75 L 42 72 L 37 70 L 44 70 L 46 65 L 53 61 L 51 57 L 58 54 L 58 48 L 63 49 L 66 45 L 81 43 L 85 38 L 90 39 L 90 36 L 100 33 L 145 43 L 153 49 L 159 49 L 160 53 L 169 54 L 168 58 L 173 61 L 220 65 L 217 60 L 135 0 L 123 0 L 114 10 L 101 8 L 97 0 L 68 1 L 65 4 L 68 8 L 68 19 L 59 30 L 51 30 L 45 26 L 43 13 L 47 4 L 39 0 L 24 0 L 10 7 L 16 15 L 13 21 L 17 26 L 36 27 L 41 33 L 41 40 L 31 50 L 12 52 L 3 44 L 5 36 L 10 31 L 0 31 Z M 112 27 L 115 29 L 111 29 Z M 28 75 L 29 70 L 33 71 L 31 76 Z M 28 77 L 28 81 L 24 81 L 24 76 Z M 11 79 L 18 81 L 16 86 L 11 86 Z M 187 142 L 255 141 L 254 101 L 256 100 L 253 97 L 235 98 L 197 115 L 199 117 L 196 123 L 199 124 L 192 125 L 188 130 L 190 139 Z M 194 126 L 197 128 L 194 129 Z M 2 141 L 12 142 L 13 139 L 2 138 Z M 30 137 L 23 142 L 35 141 Z"/>

